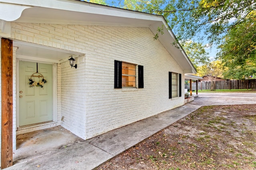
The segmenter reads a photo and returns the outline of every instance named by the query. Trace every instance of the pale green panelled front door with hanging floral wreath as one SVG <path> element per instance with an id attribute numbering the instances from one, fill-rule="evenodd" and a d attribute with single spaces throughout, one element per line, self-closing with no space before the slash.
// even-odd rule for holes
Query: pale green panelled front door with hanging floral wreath
<path id="1" fill-rule="evenodd" d="M 19 124 L 46 121 L 52 121 L 52 64 L 20 61 Z"/>

